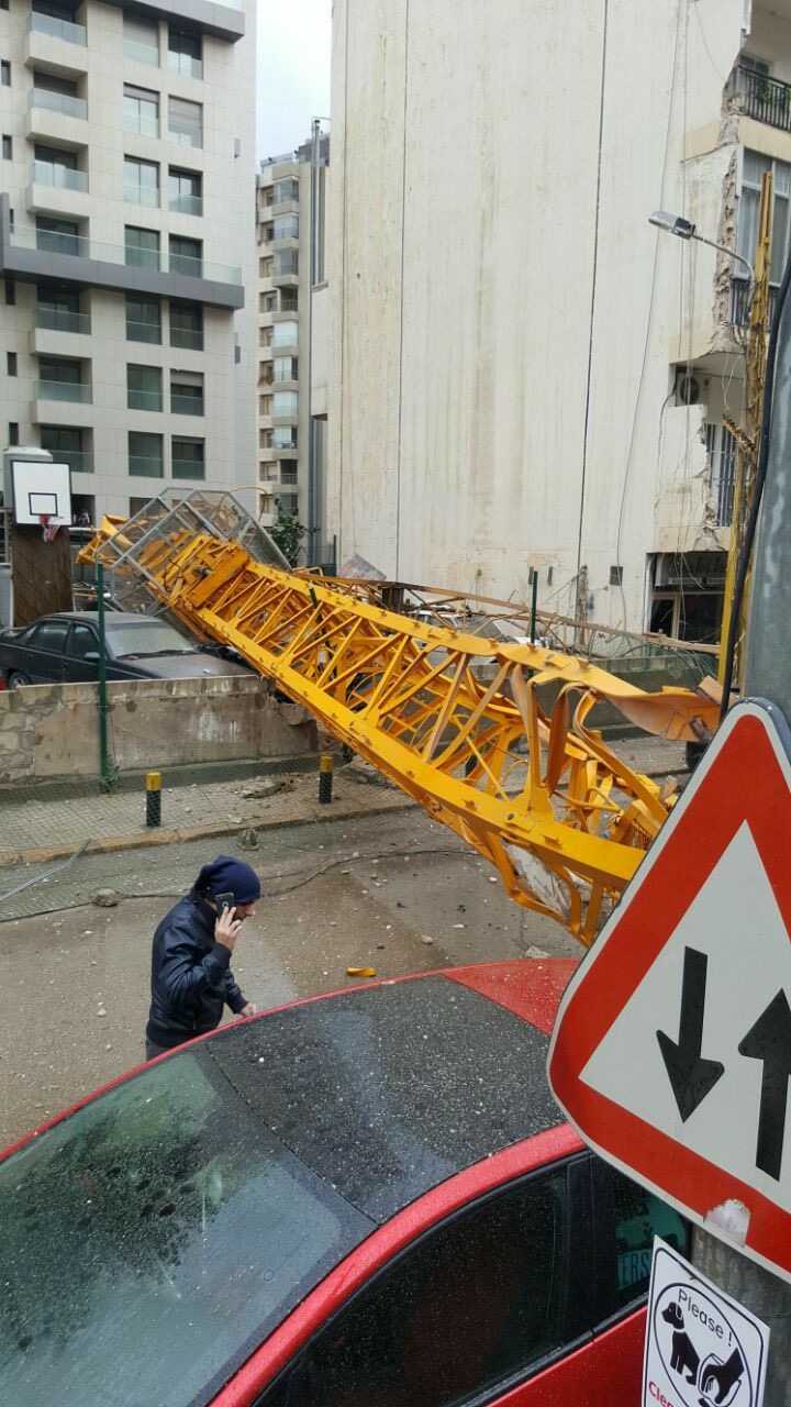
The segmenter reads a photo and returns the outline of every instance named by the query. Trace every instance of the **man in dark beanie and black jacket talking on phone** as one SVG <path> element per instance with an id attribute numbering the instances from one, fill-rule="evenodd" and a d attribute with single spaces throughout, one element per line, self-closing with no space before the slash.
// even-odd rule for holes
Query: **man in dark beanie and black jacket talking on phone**
<path id="1" fill-rule="evenodd" d="M 187 898 L 163 917 L 151 954 L 146 1059 L 214 1031 L 225 1003 L 236 1016 L 255 1013 L 231 972 L 231 954 L 259 898 L 255 870 L 243 860 L 218 855 L 203 867 Z"/>

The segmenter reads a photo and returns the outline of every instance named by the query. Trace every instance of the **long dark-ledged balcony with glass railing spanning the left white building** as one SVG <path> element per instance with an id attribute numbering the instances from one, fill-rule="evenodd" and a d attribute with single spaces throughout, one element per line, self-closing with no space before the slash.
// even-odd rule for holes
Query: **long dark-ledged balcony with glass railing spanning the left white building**
<path id="1" fill-rule="evenodd" d="M 167 249 L 110 245 L 77 234 L 15 224 L 0 194 L 0 267 L 7 277 L 73 280 L 220 308 L 242 308 L 242 270 Z"/>

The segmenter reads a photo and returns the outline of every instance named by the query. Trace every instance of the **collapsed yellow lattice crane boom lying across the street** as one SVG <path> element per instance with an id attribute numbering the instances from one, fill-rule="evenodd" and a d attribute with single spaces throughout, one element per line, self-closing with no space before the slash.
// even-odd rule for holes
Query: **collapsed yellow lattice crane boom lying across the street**
<path id="1" fill-rule="evenodd" d="M 231 495 L 106 519 L 80 553 L 96 557 L 120 604 L 158 601 L 232 646 L 490 860 L 511 898 L 584 944 L 674 799 L 587 727 L 593 705 L 678 740 L 695 737 L 692 719 L 715 722 L 715 705 L 685 689 L 646 694 L 587 660 L 428 625 L 352 582 L 283 570 Z M 474 673 L 484 661 L 488 684 Z"/>

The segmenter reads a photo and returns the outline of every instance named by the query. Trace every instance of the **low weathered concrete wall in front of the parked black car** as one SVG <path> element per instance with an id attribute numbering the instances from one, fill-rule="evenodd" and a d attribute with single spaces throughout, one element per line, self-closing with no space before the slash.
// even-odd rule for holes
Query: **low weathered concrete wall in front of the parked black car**
<path id="1" fill-rule="evenodd" d="M 318 746 L 305 711 L 270 696 L 258 678 L 131 680 L 108 684 L 107 695 L 121 771 L 293 757 Z M 37 684 L 0 694 L 0 782 L 97 771 L 94 685 Z"/>

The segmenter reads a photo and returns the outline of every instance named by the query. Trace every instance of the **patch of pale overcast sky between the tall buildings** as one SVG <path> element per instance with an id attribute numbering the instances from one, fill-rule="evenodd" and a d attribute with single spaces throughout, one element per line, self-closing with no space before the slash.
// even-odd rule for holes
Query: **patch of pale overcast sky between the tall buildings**
<path id="1" fill-rule="evenodd" d="M 332 0 L 258 4 L 258 158 L 307 141 L 311 118 L 329 117 Z"/>

